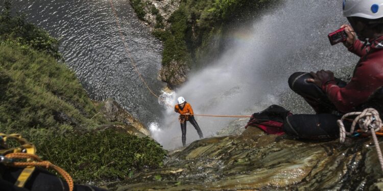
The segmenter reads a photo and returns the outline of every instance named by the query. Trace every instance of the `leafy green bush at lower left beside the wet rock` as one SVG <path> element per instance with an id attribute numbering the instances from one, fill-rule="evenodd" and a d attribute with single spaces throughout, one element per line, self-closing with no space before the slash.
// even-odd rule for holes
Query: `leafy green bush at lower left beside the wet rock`
<path id="1" fill-rule="evenodd" d="M 150 138 L 114 129 L 85 133 L 64 133 L 45 129 L 27 134 L 43 159 L 65 169 L 75 180 L 127 178 L 146 168 L 162 166 L 166 151 Z"/>

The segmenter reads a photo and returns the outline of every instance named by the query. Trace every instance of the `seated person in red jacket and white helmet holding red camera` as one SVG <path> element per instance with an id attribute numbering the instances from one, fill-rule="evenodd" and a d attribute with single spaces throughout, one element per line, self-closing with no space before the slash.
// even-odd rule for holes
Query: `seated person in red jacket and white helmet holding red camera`
<path id="1" fill-rule="evenodd" d="M 383 114 L 383 0 L 343 1 L 343 14 L 350 23 L 341 25 L 347 36 L 343 44 L 361 59 L 348 83 L 327 70 L 290 76 L 290 88 L 317 114 L 284 115 L 283 131 L 289 135 L 334 139 L 343 114 L 368 107 Z"/>

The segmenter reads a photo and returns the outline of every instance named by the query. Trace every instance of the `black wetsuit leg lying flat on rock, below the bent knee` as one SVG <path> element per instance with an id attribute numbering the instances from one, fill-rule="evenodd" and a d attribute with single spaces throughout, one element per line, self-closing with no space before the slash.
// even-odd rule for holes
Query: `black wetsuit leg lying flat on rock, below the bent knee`
<path id="1" fill-rule="evenodd" d="M 339 138 L 337 120 L 332 114 L 297 114 L 286 117 L 283 131 L 296 138 L 309 140 L 331 140 Z"/>

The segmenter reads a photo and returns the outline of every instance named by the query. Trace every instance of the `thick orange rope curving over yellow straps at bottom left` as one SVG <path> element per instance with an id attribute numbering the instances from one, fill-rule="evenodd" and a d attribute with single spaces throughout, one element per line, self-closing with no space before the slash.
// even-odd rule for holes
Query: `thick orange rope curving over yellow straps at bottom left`
<path id="1" fill-rule="evenodd" d="M 73 179 L 70 177 L 70 175 L 64 169 L 61 169 L 60 167 L 53 165 L 50 161 L 43 161 L 38 156 L 36 156 L 34 154 L 28 154 L 28 153 L 9 153 L 9 154 L 5 155 L 5 157 L 11 158 L 11 159 L 15 159 L 15 158 L 34 159 L 37 162 L 36 161 L 33 161 L 33 162 L 11 162 L 11 163 L 9 163 L 9 165 L 12 165 L 14 167 L 35 166 L 35 167 L 45 167 L 46 169 L 52 168 L 52 169 L 56 170 L 59 174 L 61 174 L 62 177 L 64 177 L 64 179 L 68 183 L 69 191 L 73 191 L 74 183 L 73 183 Z"/>

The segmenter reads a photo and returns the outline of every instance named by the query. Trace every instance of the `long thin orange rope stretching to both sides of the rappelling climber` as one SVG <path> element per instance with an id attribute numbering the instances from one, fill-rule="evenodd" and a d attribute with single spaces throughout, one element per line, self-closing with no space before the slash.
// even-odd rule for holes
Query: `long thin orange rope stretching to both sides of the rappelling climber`
<path id="1" fill-rule="evenodd" d="M 132 64 L 132 66 L 134 67 L 134 70 L 137 72 L 139 78 L 141 79 L 142 83 L 146 86 L 146 88 L 149 90 L 149 92 L 156 98 L 162 100 L 166 105 L 169 105 L 170 107 L 173 107 L 172 104 L 168 103 L 165 99 L 161 98 L 160 96 L 158 96 L 157 94 L 155 94 L 152 89 L 150 89 L 150 87 L 148 86 L 147 82 L 145 81 L 145 79 L 143 79 L 142 77 L 142 74 L 141 72 L 138 70 L 137 68 L 137 65 L 136 63 L 134 62 L 134 60 L 132 59 L 132 55 L 129 51 L 129 48 L 128 48 L 128 45 L 126 43 L 126 40 L 125 40 L 125 37 L 123 35 L 123 32 L 122 32 L 122 28 L 121 28 L 121 24 L 119 23 L 119 19 L 118 19 L 118 16 L 117 16 L 117 13 L 114 9 L 114 5 L 113 5 L 113 1 L 112 0 L 109 0 L 109 3 L 110 3 L 110 6 L 112 8 L 112 12 L 114 14 L 114 17 L 115 17 L 115 20 L 116 20 L 116 24 L 117 24 L 117 27 L 118 27 L 118 34 L 119 36 L 121 37 L 123 43 L 124 43 L 124 47 L 125 47 L 125 51 L 127 52 L 128 56 L 129 56 L 129 60 L 130 60 L 130 63 Z M 249 118 L 251 116 L 228 116 L 228 115 L 197 115 L 197 114 L 194 114 L 195 116 L 205 116 L 205 117 L 233 117 L 233 118 Z"/>

